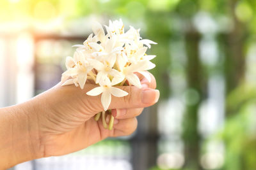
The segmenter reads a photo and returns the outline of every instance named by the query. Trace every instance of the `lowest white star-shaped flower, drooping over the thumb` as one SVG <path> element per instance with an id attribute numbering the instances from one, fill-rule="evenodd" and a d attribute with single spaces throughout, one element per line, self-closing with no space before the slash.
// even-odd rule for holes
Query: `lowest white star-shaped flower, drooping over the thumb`
<path id="1" fill-rule="evenodd" d="M 111 103 L 111 94 L 116 97 L 124 97 L 128 95 L 124 90 L 112 87 L 113 84 L 108 78 L 100 81 L 99 84 L 100 87 L 95 87 L 86 94 L 89 96 L 98 96 L 99 94 L 102 94 L 101 103 L 105 111 L 108 110 L 109 104 Z"/>

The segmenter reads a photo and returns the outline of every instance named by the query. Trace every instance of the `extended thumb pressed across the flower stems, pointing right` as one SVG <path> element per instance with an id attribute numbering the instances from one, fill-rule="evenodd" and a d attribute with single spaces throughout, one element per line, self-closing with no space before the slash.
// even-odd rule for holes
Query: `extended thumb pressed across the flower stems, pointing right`
<path id="1" fill-rule="evenodd" d="M 95 87 L 97 86 L 91 85 L 89 88 L 85 88 L 84 90 L 88 92 Z M 139 89 L 135 86 L 120 86 L 117 88 L 124 90 L 128 93 L 128 95 L 124 97 L 111 96 L 111 103 L 108 110 L 122 108 L 145 108 L 157 103 L 159 99 L 159 90 L 150 88 Z M 90 108 L 93 113 L 98 113 L 104 110 L 101 97 L 102 94 L 99 96 L 88 96 L 86 94 L 83 97 L 83 101 L 84 103 L 89 104 L 88 108 Z"/>

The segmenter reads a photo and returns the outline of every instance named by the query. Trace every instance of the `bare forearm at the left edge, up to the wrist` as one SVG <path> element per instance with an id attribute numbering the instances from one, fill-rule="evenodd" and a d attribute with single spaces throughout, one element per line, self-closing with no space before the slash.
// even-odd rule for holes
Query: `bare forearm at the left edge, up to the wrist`
<path id="1" fill-rule="evenodd" d="M 30 105 L 0 109 L 0 169 L 41 156 L 36 114 Z"/>

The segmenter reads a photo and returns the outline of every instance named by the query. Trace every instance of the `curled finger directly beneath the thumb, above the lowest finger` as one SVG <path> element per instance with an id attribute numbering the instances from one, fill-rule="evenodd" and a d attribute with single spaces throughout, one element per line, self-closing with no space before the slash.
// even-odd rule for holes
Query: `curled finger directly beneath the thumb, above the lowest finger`
<path id="1" fill-rule="evenodd" d="M 143 108 L 131 108 L 131 109 L 114 109 L 112 110 L 113 117 L 117 119 L 125 119 L 138 117 L 143 111 Z"/>

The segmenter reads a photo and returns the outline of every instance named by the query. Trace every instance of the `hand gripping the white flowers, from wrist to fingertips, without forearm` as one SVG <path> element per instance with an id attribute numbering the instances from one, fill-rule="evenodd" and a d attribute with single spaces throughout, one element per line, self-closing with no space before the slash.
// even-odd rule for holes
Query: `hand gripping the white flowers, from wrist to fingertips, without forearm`
<path id="1" fill-rule="evenodd" d="M 156 80 L 150 75 L 151 83 L 140 77 L 142 89 L 134 86 L 118 87 L 129 95 L 112 96 L 109 109 L 115 122 L 111 131 L 104 129 L 101 119 L 98 122 L 94 120 L 95 114 L 103 111 L 103 108 L 100 96 L 86 95 L 96 86 L 93 84 L 86 84 L 83 90 L 74 85 L 61 87 L 58 84 L 21 104 L 20 108 L 28 120 L 20 119 L 20 122 L 29 123 L 29 148 L 33 150 L 31 155 L 35 155 L 33 159 L 76 152 L 102 139 L 134 132 L 137 127 L 136 117 L 143 108 L 155 104 L 159 99 L 159 91 L 154 90 Z"/>

